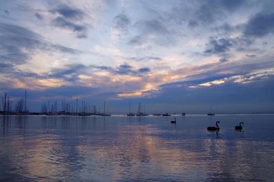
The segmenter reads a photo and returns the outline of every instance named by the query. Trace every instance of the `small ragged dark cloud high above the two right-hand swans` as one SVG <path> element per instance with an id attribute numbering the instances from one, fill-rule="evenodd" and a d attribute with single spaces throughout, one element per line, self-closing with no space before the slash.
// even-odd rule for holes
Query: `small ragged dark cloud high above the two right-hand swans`
<path id="1" fill-rule="evenodd" d="M 210 49 L 206 49 L 204 53 L 206 54 L 219 54 L 223 52 L 227 52 L 230 47 L 232 47 L 233 43 L 229 39 L 220 38 L 219 40 L 210 40 L 208 46 Z"/>

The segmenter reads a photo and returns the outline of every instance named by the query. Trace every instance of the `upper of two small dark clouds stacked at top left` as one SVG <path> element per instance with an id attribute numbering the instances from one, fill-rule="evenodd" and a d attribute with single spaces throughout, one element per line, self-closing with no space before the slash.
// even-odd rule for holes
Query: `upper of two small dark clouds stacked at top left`
<path id="1" fill-rule="evenodd" d="M 79 10 L 77 8 L 69 7 L 68 5 L 59 5 L 58 8 L 50 10 L 51 13 L 58 13 L 66 19 L 83 19 L 84 11 Z"/>

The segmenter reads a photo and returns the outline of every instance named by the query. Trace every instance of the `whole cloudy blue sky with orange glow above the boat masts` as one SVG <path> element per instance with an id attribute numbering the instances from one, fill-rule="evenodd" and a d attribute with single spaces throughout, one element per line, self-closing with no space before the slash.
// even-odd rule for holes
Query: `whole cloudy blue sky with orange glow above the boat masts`
<path id="1" fill-rule="evenodd" d="M 29 111 L 274 112 L 274 1 L 0 0 L 0 94 Z M 0 107 L 1 108 L 1 107 Z"/>

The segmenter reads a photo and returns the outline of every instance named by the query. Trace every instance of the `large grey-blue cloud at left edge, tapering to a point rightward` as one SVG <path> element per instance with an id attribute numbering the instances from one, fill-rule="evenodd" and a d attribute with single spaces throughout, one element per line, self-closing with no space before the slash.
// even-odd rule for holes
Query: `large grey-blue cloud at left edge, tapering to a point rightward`
<path id="1" fill-rule="evenodd" d="M 0 23 L 0 32 L 0 61 L 8 65 L 23 64 L 41 49 L 69 54 L 80 53 L 69 47 L 49 43 L 40 34 L 18 25 Z"/>

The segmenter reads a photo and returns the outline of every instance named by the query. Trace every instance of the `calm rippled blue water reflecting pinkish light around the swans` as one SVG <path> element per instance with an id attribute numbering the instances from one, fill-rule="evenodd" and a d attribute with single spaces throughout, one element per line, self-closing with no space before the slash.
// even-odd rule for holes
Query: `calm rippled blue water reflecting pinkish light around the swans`
<path id="1" fill-rule="evenodd" d="M 273 181 L 274 115 L 173 119 L 0 116 L 0 181 Z"/>

